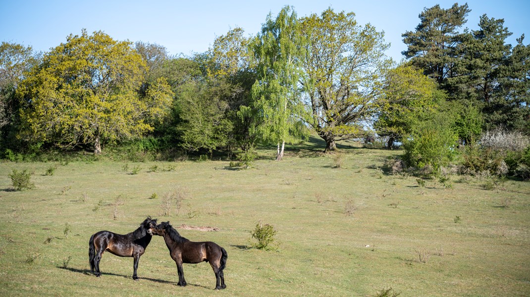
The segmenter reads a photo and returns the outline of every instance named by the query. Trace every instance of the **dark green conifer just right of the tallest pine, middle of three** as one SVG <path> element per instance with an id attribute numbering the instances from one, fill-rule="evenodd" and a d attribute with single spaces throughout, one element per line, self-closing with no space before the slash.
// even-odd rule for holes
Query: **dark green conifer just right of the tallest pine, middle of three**
<path id="1" fill-rule="evenodd" d="M 510 102 L 506 91 L 511 45 L 505 40 L 511 33 L 504 20 L 482 15 L 479 30 L 465 32 L 458 49 L 456 75 L 447 80 L 453 98 L 474 105 L 484 114 L 486 129 L 506 124 L 517 104 Z"/>

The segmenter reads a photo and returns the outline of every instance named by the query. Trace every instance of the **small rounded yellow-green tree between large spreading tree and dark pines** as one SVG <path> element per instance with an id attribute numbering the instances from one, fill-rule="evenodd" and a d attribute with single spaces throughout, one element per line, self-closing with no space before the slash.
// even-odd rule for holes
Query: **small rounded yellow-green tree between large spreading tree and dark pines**
<path id="1" fill-rule="evenodd" d="M 390 69 L 385 76 L 374 129 L 387 136 L 387 147 L 407 137 L 414 125 L 431 113 L 442 97 L 433 79 L 410 62 Z"/>

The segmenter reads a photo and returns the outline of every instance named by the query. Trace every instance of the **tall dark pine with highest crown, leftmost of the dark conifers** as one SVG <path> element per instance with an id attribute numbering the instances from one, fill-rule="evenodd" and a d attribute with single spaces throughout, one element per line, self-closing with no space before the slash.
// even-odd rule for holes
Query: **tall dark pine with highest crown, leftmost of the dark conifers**
<path id="1" fill-rule="evenodd" d="M 448 9 L 438 4 L 425 8 L 418 16 L 420 23 L 416 31 L 402 34 L 403 42 L 408 45 L 403 56 L 439 84 L 444 83 L 452 76 L 454 50 L 460 42 L 458 29 L 465 24 L 470 11 L 467 4 L 459 6 L 458 3 Z"/>

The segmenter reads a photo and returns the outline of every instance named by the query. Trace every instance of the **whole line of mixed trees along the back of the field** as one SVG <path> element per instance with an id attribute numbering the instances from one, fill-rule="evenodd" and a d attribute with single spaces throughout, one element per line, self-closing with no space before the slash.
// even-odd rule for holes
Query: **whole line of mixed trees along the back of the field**
<path id="1" fill-rule="evenodd" d="M 478 30 L 463 28 L 469 12 L 467 4 L 425 8 L 402 34 L 399 64 L 384 55 L 383 32 L 332 8 L 298 17 L 285 6 L 255 35 L 235 28 L 191 56 L 102 31 L 70 34 L 43 53 L 2 42 L 0 149 L 99 154 L 107 143 L 149 137 L 210 154 L 268 143 L 280 160 L 286 142 L 310 133 L 326 151 L 371 134 L 409 152 L 426 131 L 449 151 L 501 125 L 529 134 L 524 35 L 507 44 L 504 20 L 487 15 Z"/>

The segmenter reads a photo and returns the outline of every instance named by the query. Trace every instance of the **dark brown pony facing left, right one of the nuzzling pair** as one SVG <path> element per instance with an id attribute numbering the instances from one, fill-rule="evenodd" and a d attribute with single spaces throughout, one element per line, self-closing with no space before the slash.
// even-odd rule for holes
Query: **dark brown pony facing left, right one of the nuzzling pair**
<path id="1" fill-rule="evenodd" d="M 215 290 L 225 289 L 223 269 L 226 267 L 228 254 L 226 254 L 224 248 L 211 241 L 193 242 L 185 239 L 180 236 L 179 232 L 169 222 L 162 222 L 156 228 L 151 228 L 147 232 L 164 237 L 169 254 L 175 260 L 176 269 L 179 272 L 179 286 L 186 285 L 182 263 L 209 262 L 215 273 Z"/>

